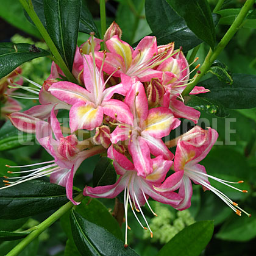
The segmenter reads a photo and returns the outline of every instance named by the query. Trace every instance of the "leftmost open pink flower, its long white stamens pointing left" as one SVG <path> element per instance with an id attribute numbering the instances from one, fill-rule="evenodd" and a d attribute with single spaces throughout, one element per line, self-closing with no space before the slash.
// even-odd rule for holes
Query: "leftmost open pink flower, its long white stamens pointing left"
<path id="1" fill-rule="evenodd" d="M 46 175 L 50 176 L 50 181 L 52 183 L 59 184 L 66 187 L 66 196 L 68 199 L 77 204 L 73 200 L 73 178 L 80 164 L 88 157 L 92 155 L 100 154 L 104 152 L 105 149 L 102 146 L 95 146 L 94 148 L 82 151 L 80 141 L 77 140 L 76 135 L 69 135 L 64 137 L 62 134 L 62 129 L 60 123 L 55 116 L 54 108 L 51 111 L 51 124 L 45 121 L 38 121 L 35 124 L 36 137 L 41 146 L 46 149 L 46 151 L 54 157 L 54 160 L 44 163 L 37 163 L 27 166 L 44 165 L 49 164 L 40 168 L 21 171 L 21 173 L 29 172 L 27 176 L 23 177 L 6 177 L 7 179 L 17 179 L 15 182 L 10 182 L 5 180 L 5 185 L 14 186 L 19 183 L 26 182 L 27 180 L 36 179 L 38 177 L 43 177 Z M 55 139 L 52 136 L 54 133 Z M 16 166 L 9 166 L 16 167 Z M 18 166 L 17 166 L 18 167 Z M 6 187 L 4 187 L 6 188 Z"/>

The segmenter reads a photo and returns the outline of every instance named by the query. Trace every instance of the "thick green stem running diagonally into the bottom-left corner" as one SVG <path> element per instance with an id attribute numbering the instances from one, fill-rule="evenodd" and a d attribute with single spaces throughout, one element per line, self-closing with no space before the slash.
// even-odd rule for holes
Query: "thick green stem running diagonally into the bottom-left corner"
<path id="1" fill-rule="evenodd" d="M 77 202 L 82 201 L 84 199 L 83 193 L 78 194 L 74 200 Z M 44 230 L 46 230 L 49 226 L 51 226 L 57 219 L 59 219 L 62 215 L 64 215 L 66 212 L 68 212 L 74 205 L 71 202 L 66 203 L 62 207 L 59 208 L 54 214 L 49 216 L 45 221 L 41 222 L 38 226 L 36 226 L 36 229 L 32 231 L 29 235 L 27 235 L 20 243 L 18 243 L 12 251 L 10 251 L 6 256 L 16 256 L 20 254 L 21 251 L 29 244 L 31 243 L 35 238 L 37 238 L 40 233 L 42 233 Z"/>

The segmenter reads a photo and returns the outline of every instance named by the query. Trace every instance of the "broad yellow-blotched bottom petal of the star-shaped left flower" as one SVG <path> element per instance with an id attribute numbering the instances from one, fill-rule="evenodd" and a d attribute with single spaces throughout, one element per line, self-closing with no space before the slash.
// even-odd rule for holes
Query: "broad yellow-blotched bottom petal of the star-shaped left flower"
<path id="1" fill-rule="evenodd" d="M 69 126 L 71 133 L 79 129 L 93 130 L 101 126 L 104 110 L 102 107 L 94 107 L 88 102 L 77 102 L 69 111 Z"/>

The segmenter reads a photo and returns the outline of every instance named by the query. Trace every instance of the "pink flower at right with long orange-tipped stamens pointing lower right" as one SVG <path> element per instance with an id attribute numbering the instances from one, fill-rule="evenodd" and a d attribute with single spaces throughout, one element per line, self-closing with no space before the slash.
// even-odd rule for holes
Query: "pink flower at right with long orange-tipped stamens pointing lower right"
<path id="1" fill-rule="evenodd" d="M 199 165 L 202 159 L 206 157 L 213 144 L 218 138 L 218 133 L 216 130 L 211 129 L 204 130 L 199 126 L 195 126 L 193 129 L 184 133 L 182 137 L 178 140 L 176 154 L 174 158 L 174 171 L 181 172 L 183 174 L 182 179 L 180 179 L 180 188 L 179 194 L 183 198 L 179 205 L 177 205 L 178 210 L 184 210 L 190 207 L 190 199 L 193 193 L 191 180 L 195 184 L 200 184 L 204 188 L 204 190 L 211 190 L 218 197 L 220 197 L 227 205 L 229 205 L 232 210 L 241 215 L 241 212 L 244 212 L 238 204 L 233 202 L 229 197 L 227 197 L 224 193 L 210 185 L 208 181 L 208 177 L 211 179 L 215 179 L 218 182 L 224 183 L 225 185 L 232 187 L 228 183 L 243 183 L 240 182 L 229 182 L 226 180 L 222 180 L 216 178 L 214 176 L 210 176 L 206 173 L 205 167 Z M 163 182 L 163 184 L 156 188 L 157 191 L 165 193 L 166 191 L 173 190 L 172 180 L 169 182 L 169 178 Z M 238 188 L 232 187 L 235 190 L 246 193 L 245 190 L 239 190 Z M 239 209 L 239 210 L 238 210 Z M 246 212 L 244 212 L 246 213 Z M 248 216 L 249 214 L 246 213 Z"/>

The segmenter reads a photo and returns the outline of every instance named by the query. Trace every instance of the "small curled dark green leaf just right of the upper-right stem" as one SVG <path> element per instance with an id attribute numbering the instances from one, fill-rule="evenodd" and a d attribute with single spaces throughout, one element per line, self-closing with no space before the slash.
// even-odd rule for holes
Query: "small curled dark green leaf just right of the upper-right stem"
<path id="1" fill-rule="evenodd" d="M 215 62 L 213 62 L 208 72 L 218 77 L 221 82 L 226 82 L 229 85 L 233 84 L 233 77 L 229 68 L 219 60 L 215 60 Z"/>

